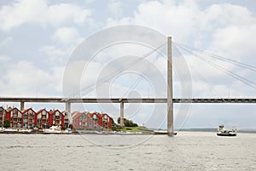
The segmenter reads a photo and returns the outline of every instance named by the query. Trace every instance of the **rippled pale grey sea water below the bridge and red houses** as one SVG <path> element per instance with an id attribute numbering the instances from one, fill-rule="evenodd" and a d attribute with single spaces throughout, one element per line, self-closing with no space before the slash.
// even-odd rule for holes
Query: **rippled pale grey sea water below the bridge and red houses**
<path id="1" fill-rule="evenodd" d="M 0 170 L 256 170 L 256 134 L 0 134 Z"/>

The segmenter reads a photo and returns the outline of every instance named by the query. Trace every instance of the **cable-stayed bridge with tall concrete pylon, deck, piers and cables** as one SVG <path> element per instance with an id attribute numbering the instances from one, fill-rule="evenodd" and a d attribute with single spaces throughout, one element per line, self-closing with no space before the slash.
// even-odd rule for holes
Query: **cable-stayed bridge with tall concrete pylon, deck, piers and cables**
<path id="1" fill-rule="evenodd" d="M 208 52 L 202 52 L 198 48 L 191 48 L 182 43 L 176 43 L 176 46 L 183 48 L 183 50 L 195 54 L 195 57 L 199 60 L 206 62 L 208 65 L 217 68 L 220 71 L 230 75 L 230 77 L 236 78 L 241 83 L 247 84 L 251 88 L 256 88 L 256 83 L 248 80 L 245 77 L 241 77 L 238 74 L 228 71 L 222 66 L 214 64 L 212 61 L 202 57 L 203 54 L 207 54 L 210 57 L 229 62 L 236 66 L 241 66 L 251 71 L 256 71 L 256 67 L 243 64 L 236 60 L 230 60 L 222 56 L 211 54 Z M 191 50 L 192 49 L 192 50 Z M 206 79 L 201 76 L 201 80 L 207 83 Z M 71 111 L 71 105 L 76 103 L 119 103 L 120 104 L 120 125 L 124 125 L 124 104 L 125 103 L 162 103 L 167 104 L 167 134 L 172 136 L 174 134 L 173 128 L 173 104 L 174 103 L 256 103 L 256 99 L 253 98 L 173 98 L 173 85 L 172 85 L 172 37 L 167 37 L 167 98 L 10 98 L 0 97 L 0 102 L 19 102 L 20 110 L 24 110 L 25 103 L 63 103 L 66 104 L 66 110 Z"/>

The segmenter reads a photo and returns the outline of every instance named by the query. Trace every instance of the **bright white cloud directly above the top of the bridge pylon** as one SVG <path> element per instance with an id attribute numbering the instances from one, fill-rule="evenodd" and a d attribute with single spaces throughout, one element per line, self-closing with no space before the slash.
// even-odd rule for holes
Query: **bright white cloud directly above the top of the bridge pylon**
<path id="1" fill-rule="evenodd" d="M 108 19 L 108 26 L 119 24 L 136 24 L 151 27 L 172 35 L 181 42 L 187 40 L 194 31 L 198 9 L 194 3 L 178 3 L 173 5 L 168 2 L 150 1 L 141 3 L 133 17 L 120 20 Z"/>

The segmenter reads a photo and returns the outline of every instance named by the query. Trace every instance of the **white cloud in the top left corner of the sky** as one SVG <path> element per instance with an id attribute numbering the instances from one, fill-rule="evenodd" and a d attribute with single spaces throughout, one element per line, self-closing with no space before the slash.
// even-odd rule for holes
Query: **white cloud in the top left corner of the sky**
<path id="1" fill-rule="evenodd" d="M 84 24 L 90 21 L 90 9 L 77 5 L 60 3 L 49 5 L 44 0 L 19 0 L 0 9 L 0 29 L 9 31 L 25 23 L 60 26 L 67 22 Z"/>

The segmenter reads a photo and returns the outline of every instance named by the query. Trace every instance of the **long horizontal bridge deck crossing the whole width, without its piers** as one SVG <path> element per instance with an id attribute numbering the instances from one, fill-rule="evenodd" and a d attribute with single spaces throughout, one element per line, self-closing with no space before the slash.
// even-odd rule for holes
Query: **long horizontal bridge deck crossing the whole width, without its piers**
<path id="1" fill-rule="evenodd" d="M 173 103 L 256 103 L 256 99 L 173 99 Z M 4 98 L 0 102 L 33 102 L 33 103 L 167 103 L 166 98 L 120 99 L 120 98 Z"/>

